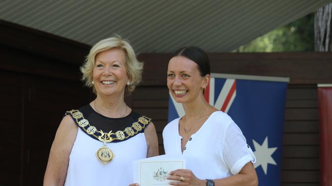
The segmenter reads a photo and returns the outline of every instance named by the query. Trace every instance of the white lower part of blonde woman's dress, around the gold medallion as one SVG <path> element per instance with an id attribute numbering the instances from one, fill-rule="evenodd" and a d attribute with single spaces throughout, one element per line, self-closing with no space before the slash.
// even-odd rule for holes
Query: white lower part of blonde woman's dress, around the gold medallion
<path id="1" fill-rule="evenodd" d="M 107 143 L 115 157 L 104 164 L 96 157 L 97 150 L 104 145 L 78 129 L 77 137 L 69 156 L 65 186 L 85 185 L 129 185 L 133 183 L 132 161 L 147 157 L 144 133 L 117 143 Z"/>

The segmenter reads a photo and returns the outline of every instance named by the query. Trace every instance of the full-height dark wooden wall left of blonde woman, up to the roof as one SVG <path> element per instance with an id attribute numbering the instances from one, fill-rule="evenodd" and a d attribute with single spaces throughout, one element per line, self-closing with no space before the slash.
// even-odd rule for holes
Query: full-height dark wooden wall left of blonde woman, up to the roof
<path id="1" fill-rule="evenodd" d="M 89 46 L 3 21 L 0 38 L 0 185 L 42 185 L 63 114 L 92 99 L 78 71 Z"/>

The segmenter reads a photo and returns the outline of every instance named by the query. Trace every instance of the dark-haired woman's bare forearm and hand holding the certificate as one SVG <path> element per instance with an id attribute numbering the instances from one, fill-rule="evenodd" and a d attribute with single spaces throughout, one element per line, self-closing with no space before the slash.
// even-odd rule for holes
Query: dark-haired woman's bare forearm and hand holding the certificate
<path id="1" fill-rule="evenodd" d="M 184 182 L 172 182 L 171 185 L 185 185 L 183 183 L 188 183 L 187 185 L 197 185 L 197 186 L 205 186 L 205 179 L 198 179 L 192 171 L 186 169 L 178 169 L 172 171 L 170 173 L 170 177 L 168 179 L 180 180 L 181 176 L 184 177 Z M 214 179 L 216 186 L 228 185 L 228 186 L 257 186 L 258 178 L 256 175 L 255 168 L 252 163 L 247 163 L 239 172 L 239 174 L 229 176 L 222 179 Z"/>

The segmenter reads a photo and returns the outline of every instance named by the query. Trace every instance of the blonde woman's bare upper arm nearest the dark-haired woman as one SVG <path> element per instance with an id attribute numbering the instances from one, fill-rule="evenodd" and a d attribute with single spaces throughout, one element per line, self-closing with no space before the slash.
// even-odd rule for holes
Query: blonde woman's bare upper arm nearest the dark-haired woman
<path id="1" fill-rule="evenodd" d="M 158 156 L 159 155 L 158 138 L 153 122 L 150 122 L 148 127 L 145 128 L 144 133 L 148 145 L 147 158 Z"/>

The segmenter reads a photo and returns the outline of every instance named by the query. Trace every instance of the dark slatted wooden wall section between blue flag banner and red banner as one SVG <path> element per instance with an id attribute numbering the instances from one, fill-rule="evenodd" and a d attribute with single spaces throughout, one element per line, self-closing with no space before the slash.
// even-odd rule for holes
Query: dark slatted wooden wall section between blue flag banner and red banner
<path id="1" fill-rule="evenodd" d="M 289 85 L 282 153 L 282 185 L 319 185 L 317 85 Z"/>

